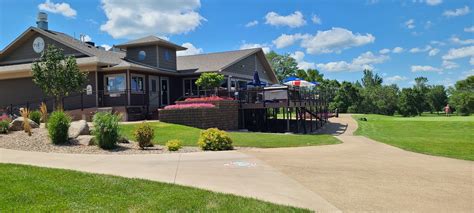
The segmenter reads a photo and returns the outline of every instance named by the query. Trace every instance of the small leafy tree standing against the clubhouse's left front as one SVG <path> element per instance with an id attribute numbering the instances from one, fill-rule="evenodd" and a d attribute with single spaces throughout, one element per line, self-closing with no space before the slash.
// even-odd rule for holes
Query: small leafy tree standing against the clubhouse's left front
<path id="1" fill-rule="evenodd" d="M 33 82 L 43 92 L 55 99 L 55 106 L 62 110 L 62 98 L 80 92 L 87 81 L 73 56 L 64 56 L 63 50 L 48 45 L 39 61 L 32 65 Z"/>

